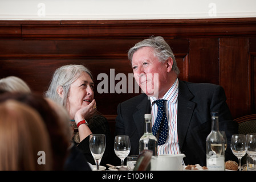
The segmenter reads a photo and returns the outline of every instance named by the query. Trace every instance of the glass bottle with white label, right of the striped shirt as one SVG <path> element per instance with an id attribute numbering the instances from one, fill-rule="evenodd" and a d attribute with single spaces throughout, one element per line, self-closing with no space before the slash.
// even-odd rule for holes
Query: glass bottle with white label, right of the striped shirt
<path id="1" fill-rule="evenodd" d="M 219 131 L 218 113 L 211 115 L 212 131 L 206 138 L 206 165 L 212 171 L 225 171 L 225 140 Z"/>

